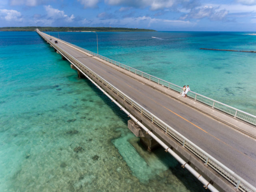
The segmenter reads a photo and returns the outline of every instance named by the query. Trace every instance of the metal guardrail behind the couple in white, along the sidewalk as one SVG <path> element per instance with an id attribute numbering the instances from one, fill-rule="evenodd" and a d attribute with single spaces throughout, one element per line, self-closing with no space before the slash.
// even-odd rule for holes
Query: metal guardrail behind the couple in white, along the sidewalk
<path id="1" fill-rule="evenodd" d="M 63 40 L 62 40 L 62 41 L 63 41 Z M 117 62 L 117 61 L 114 61 L 114 60 L 112 60 L 112 59 L 106 58 L 106 57 L 104 57 L 104 56 L 101 56 L 101 55 L 99 55 L 99 54 L 96 54 L 96 53 L 94 53 L 94 52 L 91 52 L 91 51 L 89 51 L 89 50 L 86 50 L 86 49 L 84 49 L 84 48 L 81 48 L 81 47 L 76 46 L 76 45 L 74 45 L 74 44 L 71 44 L 71 43 L 69 43 L 69 42 L 66 42 L 66 41 L 63 41 L 63 42 L 65 42 L 65 43 L 67 43 L 67 44 L 70 44 L 71 46 L 74 46 L 74 47 L 76 47 L 76 48 L 78 48 L 78 49 L 80 49 L 80 50 L 82 50 L 82 51 L 84 51 L 84 52 L 87 52 L 87 53 L 89 53 L 89 54 L 92 54 L 92 55 L 94 55 L 94 56 L 96 56 L 96 57 L 98 57 L 98 58 L 101 58 L 101 59 L 103 59 L 103 60 L 105 60 L 105 61 L 107 61 L 107 62 L 109 62 L 109 63 L 111 63 L 111 64 L 114 64 L 114 65 L 116 65 L 116 66 L 119 66 L 120 68 L 123 68 L 123 69 L 125 69 L 125 70 L 130 71 L 130 72 L 133 72 L 134 74 L 137 74 L 137 75 L 139 75 L 139 76 L 141 76 L 141 77 L 144 77 L 144 78 L 146 78 L 146 79 L 148 79 L 148 80 L 150 80 L 150 81 L 153 81 L 153 82 L 155 82 L 155 83 L 157 83 L 157 84 L 163 85 L 164 87 L 166 87 L 166 88 L 168 88 L 168 89 L 171 89 L 171 90 L 174 90 L 174 91 L 176 91 L 176 92 L 182 93 L 182 87 L 180 87 L 180 86 L 178 86 L 178 85 L 172 84 L 172 83 L 170 83 L 170 82 L 167 82 L 167 81 L 165 81 L 165 80 L 162 80 L 162 79 L 160 79 L 160 78 L 157 78 L 157 77 L 155 77 L 155 76 L 152 76 L 152 75 L 150 75 L 150 74 L 147 74 L 147 73 L 145 73 L 145 72 L 142 72 L 142 71 L 140 71 L 140 70 L 137 70 L 137 69 L 135 69 L 135 68 L 132 68 L 132 67 L 130 67 L 130 66 L 127 66 L 127 65 L 125 65 L 125 64 L 122 64 L 122 63 L 120 63 L 120 62 Z M 211 99 L 211 98 L 208 98 L 208 97 L 206 97 L 206 96 L 203 96 L 203 95 L 198 94 L 198 93 L 193 92 L 193 91 L 188 92 L 187 96 L 189 96 L 190 98 L 193 98 L 193 99 L 196 100 L 196 101 L 202 102 L 202 103 L 204 103 L 204 104 L 206 104 L 206 105 L 208 105 L 208 106 L 210 106 L 210 107 L 212 107 L 212 108 L 215 108 L 215 109 L 218 109 L 218 110 L 220 110 L 220 111 L 222 111 L 222 112 L 225 112 L 226 114 L 229 114 L 229 115 L 231 115 L 231 116 L 234 116 L 234 118 L 238 118 L 238 119 L 243 120 L 243 121 L 245 121 L 245 122 L 248 122 L 248 123 L 250 123 L 250 124 L 256 125 L 256 116 L 254 116 L 254 115 L 252 115 L 252 114 L 249 114 L 249 113 L 244 112 L 244 111 L 242 111 L 242 110 L 239 110 L 239 109 L 237 109 L 237 108 L 228 106 L 228 105 L 226 105 L 226 104 L 224 104 L 224 103 L 218 102 L 218 101 L 216 101 L 216 100 L 213 100 L 213 99 Z"/>

